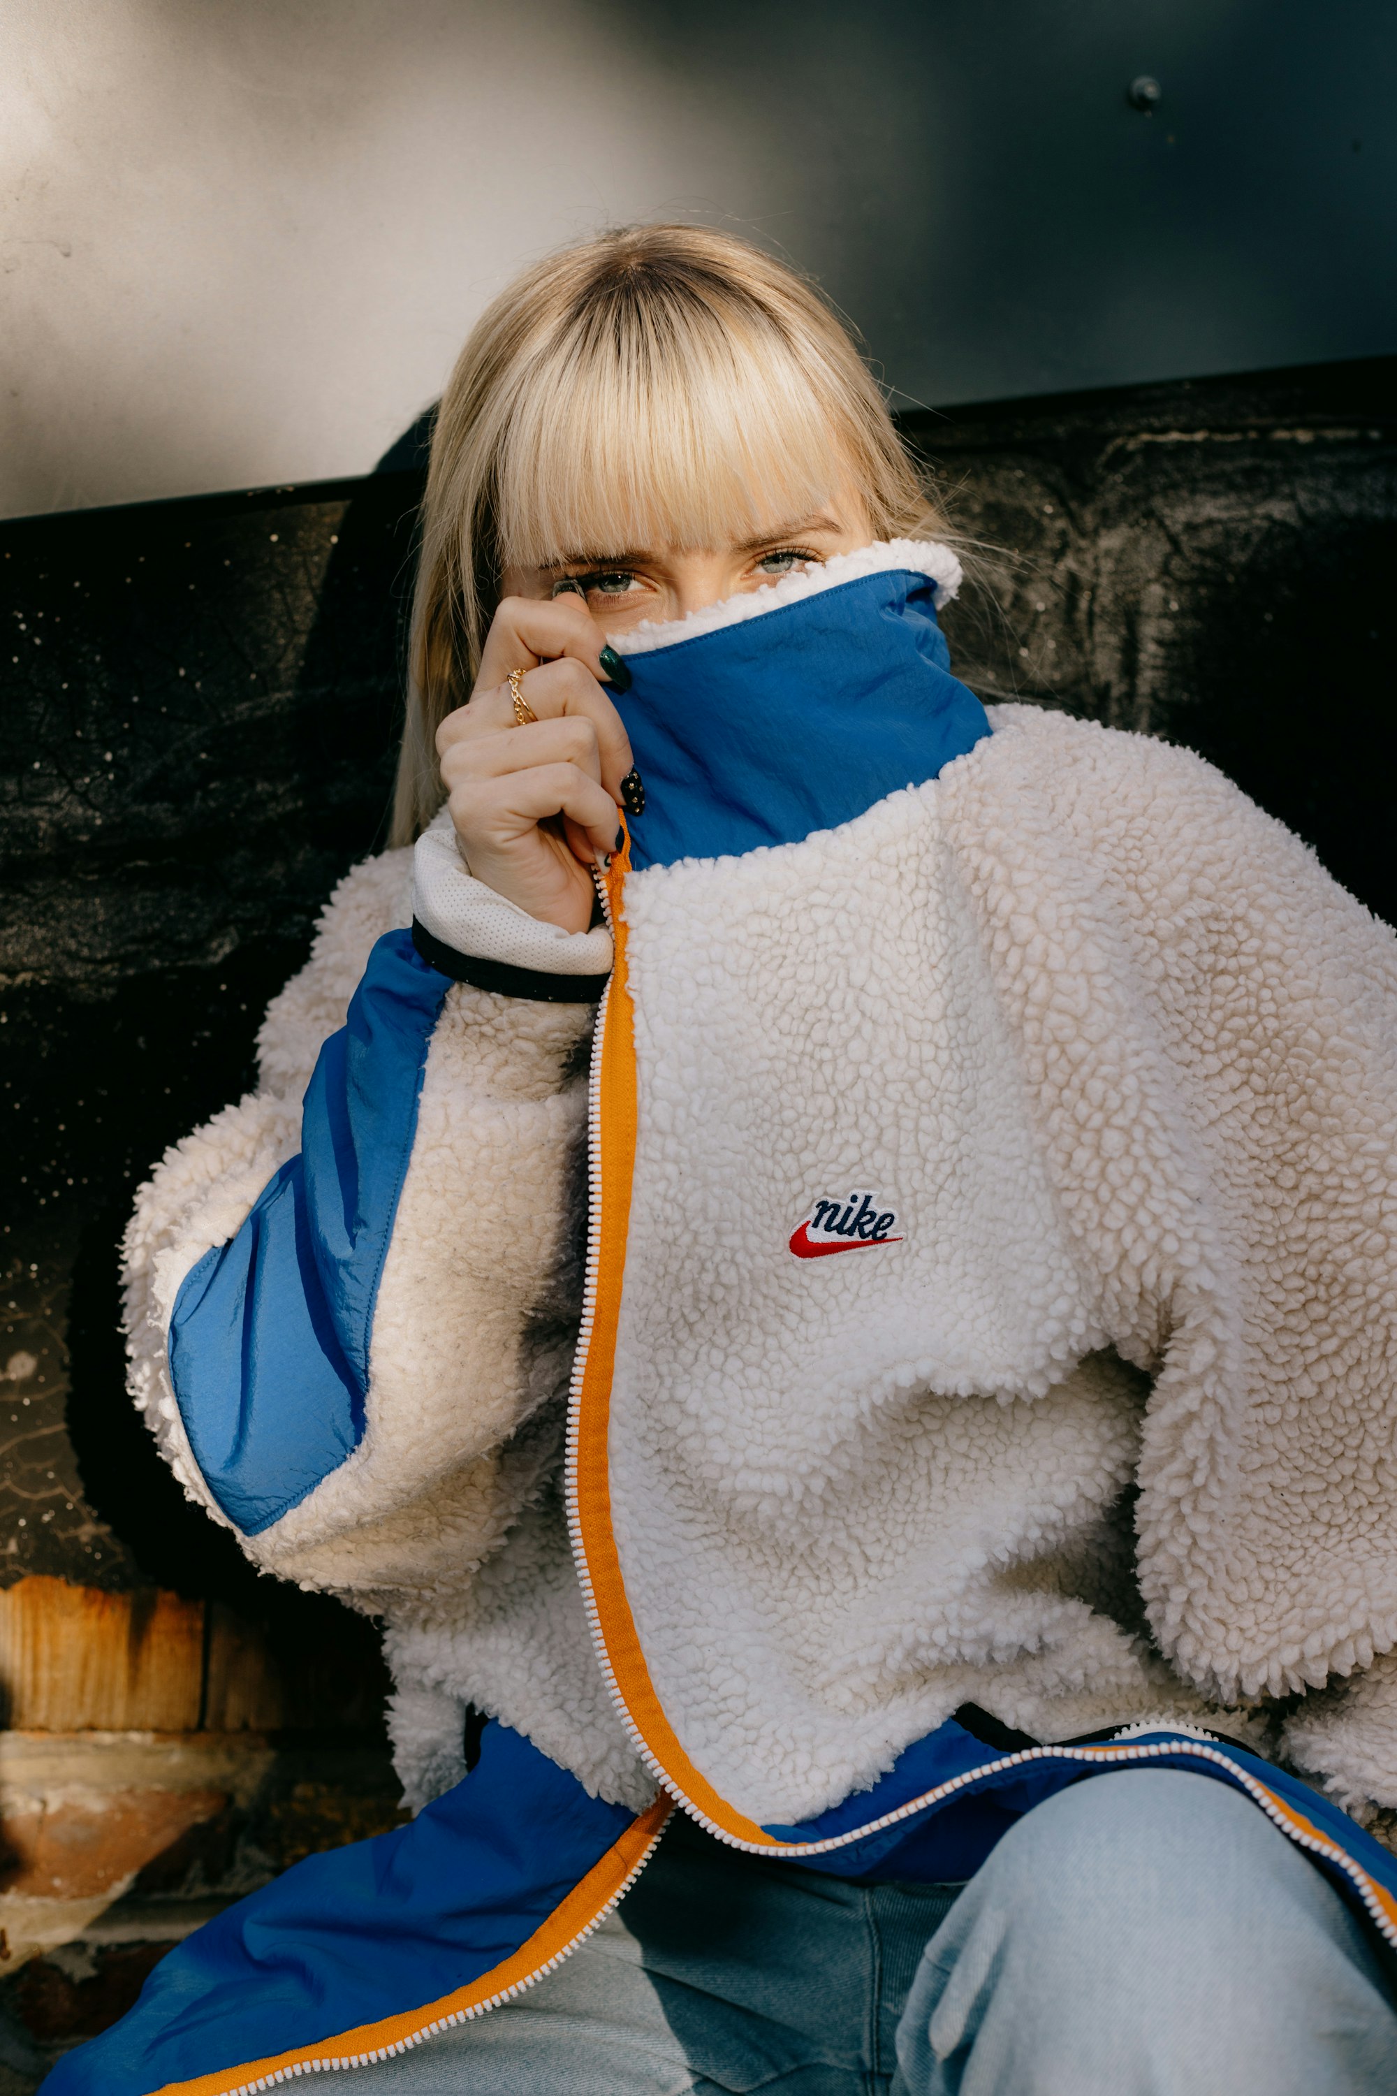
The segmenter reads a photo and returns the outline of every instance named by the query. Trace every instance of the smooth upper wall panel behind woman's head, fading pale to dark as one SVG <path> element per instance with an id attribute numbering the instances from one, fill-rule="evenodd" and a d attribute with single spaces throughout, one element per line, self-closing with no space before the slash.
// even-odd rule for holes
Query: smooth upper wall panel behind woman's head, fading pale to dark
<path id="1" fill-rule="evenodd" d="M 1397 348 L 1391 0 L 4 0 L 0 514 L 364 472 L 528 258 L 735 224 L 968 400 Z M 1154 71 L 1154 117 L 1125 82 Z"/>

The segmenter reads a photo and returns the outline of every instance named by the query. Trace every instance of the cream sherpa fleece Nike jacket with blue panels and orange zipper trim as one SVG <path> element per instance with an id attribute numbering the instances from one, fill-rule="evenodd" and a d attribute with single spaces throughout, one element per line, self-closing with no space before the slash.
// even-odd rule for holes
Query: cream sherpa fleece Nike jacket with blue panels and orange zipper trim
<path id="1" fill-rule="evenodd" d="M 272 1886 L 165 1962 L 197 2033 L 147 2004 L 119 2088 L 478 2014 L 672 1805 L 953 1878 L 1165 1759 L 1397 1943 L 1393 1859 L 1317 1794 L 1397 1807 L 1395 941 L 1190 752 L 980 708 L 957 578 L 875 545 L 633 633 L 607 922 L 526 918 L 440 817 L 341 882 L 260 1090 L 142 1191 L 136 1402 L 253 1562 L 383 1618 L 438 1803 L 358 1893 L 312 1859 L 335 1958 L 346 1899 L 379 1964 L 413 1916 L 369 2021 L 323 1972 L 268 2008 Z M 566 1798 L 576 1870 L 515 1857 L 482 1947 L 511 1786 L 553 1836 Z M 452 1840 L 480 1899 L 427 1886 Z"/>

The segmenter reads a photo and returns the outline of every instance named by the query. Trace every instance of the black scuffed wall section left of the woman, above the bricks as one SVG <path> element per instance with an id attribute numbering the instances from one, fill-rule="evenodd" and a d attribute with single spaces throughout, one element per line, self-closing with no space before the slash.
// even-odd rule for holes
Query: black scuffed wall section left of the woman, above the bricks
<path id="1" fill-rule="evenodd" d="M 115 1245 L 165 1144 L 249 1084 L 266 1000 L 383 834 L 419 488 L 0 526 L 6 1582 L 155 1580 L 253 1616 L 274 1593 L 121 1396 Z"/>

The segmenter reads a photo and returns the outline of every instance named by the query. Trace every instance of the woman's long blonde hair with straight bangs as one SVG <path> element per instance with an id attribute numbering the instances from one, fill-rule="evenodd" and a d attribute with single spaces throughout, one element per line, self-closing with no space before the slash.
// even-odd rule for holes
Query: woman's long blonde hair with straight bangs
<path id="1" fill-rule="evenodd" d="M 394 843 L 442 803 L 505 568 L 710 547 L 865 501 L 878 539 L 943 530 L 819 291 L 748 241 L 624 226 L 526 270 L 457 358 L 431 438 Z"/>

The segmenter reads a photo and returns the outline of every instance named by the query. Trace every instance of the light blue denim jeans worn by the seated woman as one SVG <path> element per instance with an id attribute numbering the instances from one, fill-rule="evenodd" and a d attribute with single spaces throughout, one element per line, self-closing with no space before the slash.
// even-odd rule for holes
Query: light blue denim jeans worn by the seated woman
<path id="1" fill-rule="evenodd" d="M 968 1886 L 852 1884 L 670 1826 L 557 1972 L 354 2090 L 1393 2096 L 1397 1960 L 1236 1790 L 1095 1775 Z"/>

